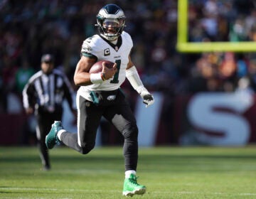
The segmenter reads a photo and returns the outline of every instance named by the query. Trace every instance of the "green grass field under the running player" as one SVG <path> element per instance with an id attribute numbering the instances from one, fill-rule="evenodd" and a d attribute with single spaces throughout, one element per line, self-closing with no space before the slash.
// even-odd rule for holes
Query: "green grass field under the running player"
<path id="1" fill-rule="evenodd" d="M 0 198 L 124 198 L 122 148 L 50 157 L 41 171 L 35 147 L 0 147 Z M 141 148 L 137 176 L 147 192 L 133 198 L 256 198 L 256 146 Z"/>

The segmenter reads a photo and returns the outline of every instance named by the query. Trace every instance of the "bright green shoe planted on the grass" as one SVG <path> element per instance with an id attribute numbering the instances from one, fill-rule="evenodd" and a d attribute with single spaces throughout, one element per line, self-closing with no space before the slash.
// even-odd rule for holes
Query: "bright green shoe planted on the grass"
<path id="1" fill-rule="evenodd" d="M 123 195 L 124 196 L 133 196 L 135 194 L 142 195 L 146 193 L 146 187 L 144 185 L 139 185 L 137 183 L 137 176 L 131 174 L 129 178 L 124 179 L 124 189 Z"/>

